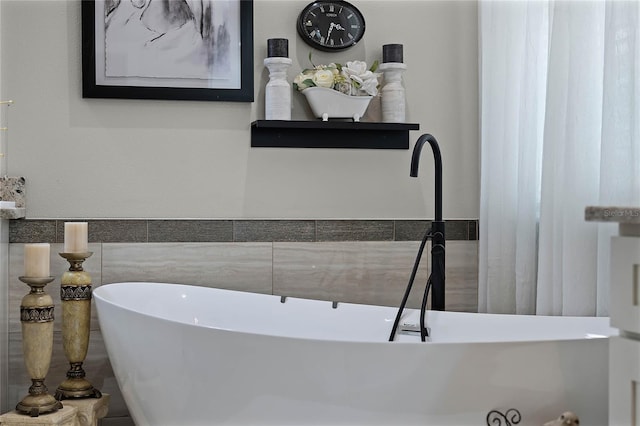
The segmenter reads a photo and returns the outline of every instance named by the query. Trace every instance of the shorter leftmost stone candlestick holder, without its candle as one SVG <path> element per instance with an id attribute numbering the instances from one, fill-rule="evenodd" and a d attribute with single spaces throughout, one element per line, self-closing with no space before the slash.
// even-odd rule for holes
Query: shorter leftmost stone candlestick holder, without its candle
<path id="1" fill-rule="evenodd" d="M 20 322 L 22 323 L 22 351 L 27 373 L 31 377 L 29 395 L 16 405 L 16 411 L 38 417 L 62 408 L 60 401 L 49 394 L 44 384 L 51 364 L 53 351 L 53 299 L 44 287 L 53 277 L 18 277 L 31 291 L 22 298 Z"/>

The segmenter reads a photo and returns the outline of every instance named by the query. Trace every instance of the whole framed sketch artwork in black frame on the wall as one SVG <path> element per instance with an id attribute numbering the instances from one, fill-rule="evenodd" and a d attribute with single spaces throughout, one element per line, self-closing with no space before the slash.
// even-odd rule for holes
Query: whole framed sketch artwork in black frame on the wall
<path id="1" fill-rule="evenodd" d="M 252 102 L 253 0 L 83 0 L 82 97 Z"/>

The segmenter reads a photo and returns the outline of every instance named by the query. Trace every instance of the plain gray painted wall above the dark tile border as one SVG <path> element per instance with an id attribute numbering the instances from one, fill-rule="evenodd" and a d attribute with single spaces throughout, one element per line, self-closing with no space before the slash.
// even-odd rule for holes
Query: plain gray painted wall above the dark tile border
<path id="1" fill-rule="evenodd" d="M 264 118 L 266 40 L 289 39 L 289 77 L 310 48 L 295 19 L 307 0 L 256 0 L 255 102 L 81 98 L 80 2 L 2 0 L 2 93 L 11 111 L 9 174 L 27 178 L 28 218 L 423 218 L 433 215 L 430 154 L 408 176 L 410 151 L 250 148 Z M 371 63 L 403 43 L 411 144 L 440 141 L 444 215 L 477 218 L 477 4 L 355 2 L 364 39 L 314 61 Z M 312 119 L 293 93 L 294 119 Z M 375 111 L 374 111 L 375 112 Z M 372 114 L 375 119 L 375 113 Z"/>

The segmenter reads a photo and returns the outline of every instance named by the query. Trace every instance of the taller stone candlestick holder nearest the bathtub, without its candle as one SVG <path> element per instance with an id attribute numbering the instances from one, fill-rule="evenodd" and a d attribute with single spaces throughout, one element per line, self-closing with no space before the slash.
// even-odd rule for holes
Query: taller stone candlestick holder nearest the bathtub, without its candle
<path id="1" fill-rule="evenodd" d="M 62 345 L 71 368 L 67 378 L 58 386 L 56 399 L 100 398 L 102 393 L 85 379 L 82 363 L 89 348 L 91 325 L 91 276 L 82 263 L 92 255 L 60 253 L 69 262 L 69 270 L 62 275 L 60 299 L 62 304 Z"/>

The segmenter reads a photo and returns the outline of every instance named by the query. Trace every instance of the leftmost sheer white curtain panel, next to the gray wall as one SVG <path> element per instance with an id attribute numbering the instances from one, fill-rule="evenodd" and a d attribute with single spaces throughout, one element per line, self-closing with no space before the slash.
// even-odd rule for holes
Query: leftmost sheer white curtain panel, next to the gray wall
<path id="1" fill-rule="evenodd" d="M 478 310 L 514 313 L 517 307 L 530 314 L 535 312 L 549 8 L 544 2 L 481 2 L 479 12 Z"/>

